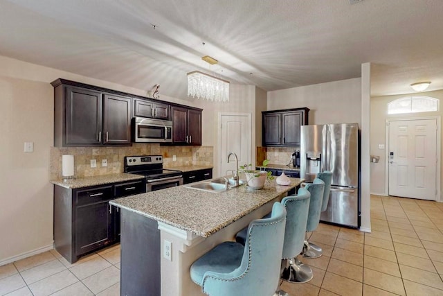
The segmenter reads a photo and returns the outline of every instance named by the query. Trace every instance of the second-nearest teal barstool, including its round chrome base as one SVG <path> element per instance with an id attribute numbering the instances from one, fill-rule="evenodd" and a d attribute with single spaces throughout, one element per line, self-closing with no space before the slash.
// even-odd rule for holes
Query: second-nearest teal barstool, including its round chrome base
<path id="1" fill-rule="evenodd" d="M 305 283 L 313 277 L 312 269 L 297 259 L 305 244 L 310 197 L 311 193 L 306 188 L 300 188 L 297 195 L 282 199 L 287 211 L 280 274 L 284 281 Z"/>

